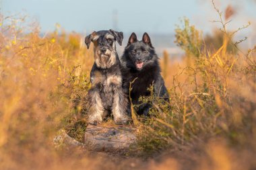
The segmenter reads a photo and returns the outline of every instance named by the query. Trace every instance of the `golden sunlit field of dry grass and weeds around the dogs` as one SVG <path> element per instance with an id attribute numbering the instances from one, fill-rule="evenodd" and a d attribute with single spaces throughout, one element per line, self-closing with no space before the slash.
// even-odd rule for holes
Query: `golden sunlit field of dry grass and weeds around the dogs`
<path id="1" fill-rule="evenodd" d="M 177 26 L 184 55 L 160 56 L 170 103 L 141 97 L 151 116 L 133 117 L 138 140 L 125 155 L 53 142 L 59 130 L 84 141 L 94 63 L 86 35 L 59 25 L 40 34 L 24 16 L 0 15 L 0 169 L 256 169 L 256 47 L 234 40 L 250 24 L 228 32 L 232 14 L 215 10 L 212 40 L 186 18 Z"/>

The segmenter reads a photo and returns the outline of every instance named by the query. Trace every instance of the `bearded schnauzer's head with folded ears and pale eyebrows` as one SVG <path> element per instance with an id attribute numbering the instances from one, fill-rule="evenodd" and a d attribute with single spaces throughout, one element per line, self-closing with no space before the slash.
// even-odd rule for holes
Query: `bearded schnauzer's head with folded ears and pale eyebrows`
<path id="1" fill-rule="evenodd" d="M 117 60 L 116 44 L 122 45 L 123 32 L 116 32 L 114 30 L 104 30 L 99 32 L 92 32 L 86 36 L 86 46 L 90 47 L 90 43 L 94 43 L 94 60 L 97 67 L 106 69 L 115 65 Z"/>

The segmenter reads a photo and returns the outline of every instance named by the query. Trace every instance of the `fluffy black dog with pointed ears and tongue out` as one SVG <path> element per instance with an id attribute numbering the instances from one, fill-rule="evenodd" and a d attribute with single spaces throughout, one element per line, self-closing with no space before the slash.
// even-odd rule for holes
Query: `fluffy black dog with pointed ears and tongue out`
<path id="1" fill-rule="evenodd" d="M 131 89 L 132 103 L 139 105 L 137 114 L 148 115 L 150 104 L 139 102 L 139 97 L 149 97 L 148 88 L 153 85 L 154 96 L 163 97 L 168 101 L 168 91 L 164 85 L 164 80 L 160 75 L 160 66 L 158 56 L 151 44 L 150 37 L 147 33 L 143 34 L 141 41 L 137 40 L 136 34 L 131 34 L 125 52 L 121 58 L 123 87 L 125 93 L 129 93 L 129 84 L 134 81 Z"/>

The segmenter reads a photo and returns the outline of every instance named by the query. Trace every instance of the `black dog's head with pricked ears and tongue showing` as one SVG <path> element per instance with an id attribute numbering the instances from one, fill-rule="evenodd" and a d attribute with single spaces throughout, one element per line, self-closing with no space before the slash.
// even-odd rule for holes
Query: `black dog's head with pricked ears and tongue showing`
<path id="1" fill-rule="evenodd" d="M 127 67 L 136 71 L 155 65 L 158 60 L 150 36 L 146 32 L 143 34 L 141 41 L 137 40 L 134 32 L 131 34 L 123 57 L 127 61 Z"/>

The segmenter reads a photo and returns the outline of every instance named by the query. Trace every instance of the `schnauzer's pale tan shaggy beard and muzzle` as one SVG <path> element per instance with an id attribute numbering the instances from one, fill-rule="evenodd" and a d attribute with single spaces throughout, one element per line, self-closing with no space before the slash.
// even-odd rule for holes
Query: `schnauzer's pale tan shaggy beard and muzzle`
<path id="1" fill-rule="evenodd" d="M 115 50 L 111 51 L 107 49 L 104 54 L 100 52 L 100 49 L 96 49 L 94 51 L 94 62 L 96 63 L 96 66 L 101 69 L 109 69 L 115 65 L 116 61 L 117 58 Z"/>

